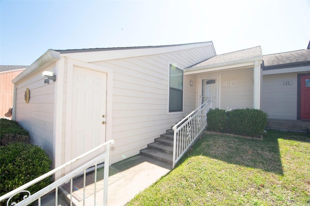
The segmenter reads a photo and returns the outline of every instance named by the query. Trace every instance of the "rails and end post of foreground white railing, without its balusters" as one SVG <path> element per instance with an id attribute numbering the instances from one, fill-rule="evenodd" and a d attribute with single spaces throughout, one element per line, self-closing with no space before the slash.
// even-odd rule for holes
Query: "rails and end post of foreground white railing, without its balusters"
<path id="1" fill-rule="evenodd" d="M 9 200 L 11 200 L 12 197 L 14 197 L 16 194 L 18 193 L 21 193 L 23 191 L 26 191 L 30 194 L 29 191 L 25 190 L 27 188 L 29 188 L 31 185 L 34 185 L 35 183 L 37 182 L 40 182 L 41 180 L 53 175 L 53 174 L 56 174 L 57 172 L 61 171 L 63 168 L 65 168 L 66 166 L 78 161 L 78 159 L 81 159 L 83 157 L 86 157 L 87 155 L 93 153 L 94 151 L 102 148 L 102 147 L 105 147 L 105 153 L 99 155 L 98 157 L 94 158 L 93 160 L 87 162 L 86 164 L 84 164 L 83 166 L 79 167 L 78 169 L 76 169 L 75 171 L 63 176 L 62 178 L 60 178 L 59 180 L 56 180 L 55 182 L 53 182 L 52 184 L 50 184 L 49 186 L 45 187 L 44 189 L 42 190 L 39 190 L 37 191 L 36 193 L 34 194 L 30 194 L 30 196 L 26 197 L 23 201 L 19 202 L 16 204 L 16 206 L 27 206 L 28 204 L 32 203 L 33 201 L 37 200 L 37 199 L 40 199 L 42 196 L 44 196 L 45 194 L 47 194 L 48 192 L 56 189 L 61 186 L 62 184 L 66 183 L 67 181 L 69 181 L 70 179 L 72 179 L 74 176 L 76 176 L 77 174 L 80 174 L 81 172 L 86 171 L 87 168 L 93 166 L 93 165 L 96 165 L 97 162 L 99 160 L 102 160 L 104 159 L 104 162 L 105 162 L 105 167 L 104 167 L 104 205 L 107 205 L 107 200 L 108 200 L 108 178 L 109 178 L 109 158 L 110 158 L 110 144 L 113 144 L 114 143 L 114 140 L 110 140 L 106 143 L 103 143 L 95 148 L 93 148 L 92 150 L 78 156 L 77 158 L 74 158 L 64 164 L 62 164 L 61 166 L 49 171 L 48 173 L 46 174 L 43 174 L 33 180 L 31 180 L 30 182 L 16 188 L 15 190 L 12 190 L 2 196 L 0 196 L 0 202 L 6 200 L 9 198 Z M 72 196 L 72 194 L 71 194 Z M 9 201 L 8 200 L 8 201 Z M 56 203 L 57 203 L 57 200 L 56 200 Z M 8 204 L 8 202 L 7 202 Z"/>

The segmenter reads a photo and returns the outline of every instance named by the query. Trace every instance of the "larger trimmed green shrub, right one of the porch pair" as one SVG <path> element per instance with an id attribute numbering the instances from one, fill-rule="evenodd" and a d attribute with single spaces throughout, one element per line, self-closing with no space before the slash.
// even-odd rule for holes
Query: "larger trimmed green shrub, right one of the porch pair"
<path id="1" fill-rule="evenodd" d="M 229 132 L 244 136 L 261 134 L 267 125 L 265 112 L 256 109 L 236 109 L 229 112 Z"/>

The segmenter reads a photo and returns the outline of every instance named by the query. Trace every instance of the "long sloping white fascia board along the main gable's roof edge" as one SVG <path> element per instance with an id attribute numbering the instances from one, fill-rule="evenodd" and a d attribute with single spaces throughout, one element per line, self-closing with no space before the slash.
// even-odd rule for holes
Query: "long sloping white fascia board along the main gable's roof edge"
<path id="1" fill-rule="evenodd" d="M 83 62 L 98 62 L 112 59 L 122 59 L 129 57 L 137 57 L 137 56 L 146 56 L 146 55 L 154 55 L 161 54 L 191 48 L 200 48 L 212 46 L 214 55 L 215 50 L 212 42 L 203 42 L 203 43 L 194 43 L 194 44 L 186 44 L 186 45 L 176 45 L 176 46 L 167 46 L 167 47 L 158 47 L 158 48 L 132 48 L 132 49 L 114 49 L 114 50 L 105 50 L 105 51 L 87 51 L 85 52 L 74 52 L 74 53 L 62 53 L 61 57 L 69 57 L 72 59 L 80 60 Z"/>

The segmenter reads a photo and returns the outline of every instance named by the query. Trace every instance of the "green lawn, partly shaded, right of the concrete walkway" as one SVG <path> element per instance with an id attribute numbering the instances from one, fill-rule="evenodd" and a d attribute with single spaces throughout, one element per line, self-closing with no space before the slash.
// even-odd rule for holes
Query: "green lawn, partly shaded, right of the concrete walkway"
<path id="1" fill-rule="evenodd" d="M 204 135 L 174 170 L 128 203 L 167 205 L 309 206 L 310 135 Z"/>

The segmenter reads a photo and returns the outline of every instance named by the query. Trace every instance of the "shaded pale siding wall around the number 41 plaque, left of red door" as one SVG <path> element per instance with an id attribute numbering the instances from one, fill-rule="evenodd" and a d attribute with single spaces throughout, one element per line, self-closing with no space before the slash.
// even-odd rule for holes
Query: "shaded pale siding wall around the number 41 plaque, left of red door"
<path id="1" fill-rule="evenodd" d="M 292 81 L 292 85 L 284 85 Z M 263 75 L 262 110 L 271 119 L 297 119 L 297 74 Z"/>

